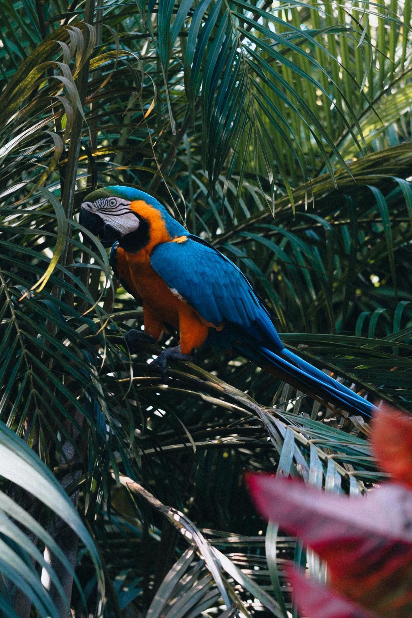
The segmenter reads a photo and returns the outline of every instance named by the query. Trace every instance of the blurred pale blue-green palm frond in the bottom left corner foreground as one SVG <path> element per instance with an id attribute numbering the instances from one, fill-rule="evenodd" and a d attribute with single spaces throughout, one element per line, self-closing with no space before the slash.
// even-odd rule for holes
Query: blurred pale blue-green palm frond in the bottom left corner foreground
<path id="1" fill-rule="evenodd" d="M 58 575 L 38 549 L 39 541 L 48 548 L 49 555 L 54 554 L 64 569 L 72 574 L 83 595 L 82 586 L 75 577 L 72 565 L 64 552 L 44 525 L 38 522 L 40 504 L 48 507 L 53 514 L 69 525 L 84 543 L 85 549 L 93 560 L 100 599 L 103 599 L 104 582 L 95 543 L 61 485 L 43 462 L 36 457 L 35 452 L 28 448 L 24 441 L 16 436 L 14 431 L 9 430 L 4 423 L 0 425 L 0 451 L 2 478 L 12 481 L 14 486 L 27 492 L 26 509 L 19 506 L 4 491 L 0 493 L 2 522 L 0 572 L 4 578 L 1 586 L 2 610 L 9 612 L 10 616 L 15 616 L 13 609 L 15 595 L 17 591 L 23 590 L 36 607 L 39 616 L 56 616 L 57 618 L 61 615 L 50 594 L 50 589 L 47 590 L 42 585 L 43 576 L 40 580 L 38 573 L 40 568 L 46 579 L 58 591 L 60 604 L 66 607 L 66 611 L 69 611 L 69 599 Z M 2 485 L 5 485 L 4 481 Z"/>

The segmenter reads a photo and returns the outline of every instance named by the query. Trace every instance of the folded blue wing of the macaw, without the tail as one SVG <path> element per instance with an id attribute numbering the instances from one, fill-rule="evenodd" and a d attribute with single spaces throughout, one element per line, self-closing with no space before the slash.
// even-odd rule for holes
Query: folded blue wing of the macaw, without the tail
<path id="1" fill-rule="evenodd" d="M 283 348 L 270 315 L 244 274 L 226 256 L 196 236 L 157 245 L 153 269 L 211 324 L 234 324 Z"/>

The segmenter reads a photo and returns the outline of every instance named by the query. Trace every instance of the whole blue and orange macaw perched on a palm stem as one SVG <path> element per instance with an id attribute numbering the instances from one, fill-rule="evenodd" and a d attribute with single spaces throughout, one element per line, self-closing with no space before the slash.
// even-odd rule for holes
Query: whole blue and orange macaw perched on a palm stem
<path id="1" fill-rule="evenodd" d="M 191 358 L 204 344 L 234 349 L 300 391 L 348 412 L 371 415 L 372 404 L 286 349 L 251 284 L 225 255 L 189 234 L 152 196 L 111 186 L 89 193 L 80 224 L 111 248 L 122 286 L 143 303 L 146 336 L 161 339 L 168 324 L 179 345 L 157 359 Z M 140 331 L 127 333 L 133 353 Z"/>

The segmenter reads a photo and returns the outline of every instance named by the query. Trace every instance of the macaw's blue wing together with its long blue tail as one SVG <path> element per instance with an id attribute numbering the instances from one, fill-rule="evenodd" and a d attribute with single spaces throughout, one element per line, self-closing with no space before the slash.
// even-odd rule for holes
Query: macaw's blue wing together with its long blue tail
<path id="1" fill-rule="evenodd" d="M 189 236 L 183 243 L 157 245 L 150 261 L 204 320 L 215 326 L 225 322 L 221 332 L 210 329 L 211 344 L 234 347 L 260 365 L 280 370 L 326 402 L 371 414 L 370 402 L 285 348 L 244 274 L 214 247 Z"/>

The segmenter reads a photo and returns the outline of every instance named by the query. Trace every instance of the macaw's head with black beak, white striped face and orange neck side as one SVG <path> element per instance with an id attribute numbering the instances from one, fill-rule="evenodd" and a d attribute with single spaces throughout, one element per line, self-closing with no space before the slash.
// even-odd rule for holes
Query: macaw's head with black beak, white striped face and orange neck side
<path id="1" fill-rule="evenodd" d="M 89 193 L 82 203 L 79 222 L 98 236 L 104 247 L 118 241 L 127 252 L 155 246 L 186 232 L 152 195 L 119 185 Z"/>

